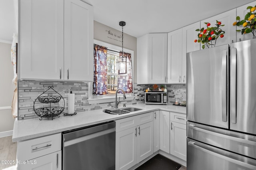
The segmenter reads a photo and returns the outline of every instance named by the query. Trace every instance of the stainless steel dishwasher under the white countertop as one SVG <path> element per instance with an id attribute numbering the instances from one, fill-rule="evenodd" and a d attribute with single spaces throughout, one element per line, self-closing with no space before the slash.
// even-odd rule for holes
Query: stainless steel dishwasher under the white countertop
<path id="1" fill-rule="evenodd" d="M 114 170 L 116 122 L 62 132 L 63 170 Z"/>

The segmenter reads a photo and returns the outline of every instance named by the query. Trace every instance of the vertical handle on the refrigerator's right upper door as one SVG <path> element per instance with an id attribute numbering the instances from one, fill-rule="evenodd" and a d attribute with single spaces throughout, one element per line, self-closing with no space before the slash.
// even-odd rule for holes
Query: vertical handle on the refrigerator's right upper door
<path id="1" fill-rule="evenodd" d="M 236 124 L 236 48 L 231 49 L 230 61 L 230 119 Z"/>

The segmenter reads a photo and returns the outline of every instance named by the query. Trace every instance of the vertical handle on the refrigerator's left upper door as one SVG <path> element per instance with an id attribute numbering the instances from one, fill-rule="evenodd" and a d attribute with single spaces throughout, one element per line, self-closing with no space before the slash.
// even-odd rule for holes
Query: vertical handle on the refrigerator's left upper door
<path id="1" fill-rule="evenodd" d="M 222 122 L 227 122 L 227 95 L 226 95 L 226 74 L 227 73 L 227 50 L 222 50 L 222 66 L 221 66 L 221 103 L 222 103 Z"/>

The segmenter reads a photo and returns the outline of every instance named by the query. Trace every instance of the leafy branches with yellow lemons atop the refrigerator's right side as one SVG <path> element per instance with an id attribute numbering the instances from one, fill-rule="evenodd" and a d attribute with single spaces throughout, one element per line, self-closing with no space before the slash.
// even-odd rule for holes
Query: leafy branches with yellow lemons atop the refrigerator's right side
<path id="1" fill-rule="evenodd" d="M 233 26 L 243 26 L 244 28 L 242 30 L 236 30 L 237 32 L 242 31 L 242 34 L 248 34 L 252 33 L 253 36 L 255 36 L 255 28 L 256 28 L 256 18 L 255 18 L 255 10 L 256 6 L 248 6 L 246 9 L 250 9 L 250 12 L 248 12 L 244 16 L 244 20 L 240 20 L 240 17 L 237 16 L 236 20 L 237 22 L 233 23 Z"/>

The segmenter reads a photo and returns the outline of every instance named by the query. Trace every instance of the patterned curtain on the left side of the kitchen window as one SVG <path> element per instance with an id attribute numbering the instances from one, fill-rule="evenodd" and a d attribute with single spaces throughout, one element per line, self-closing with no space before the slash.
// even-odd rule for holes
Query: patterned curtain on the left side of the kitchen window
<path id="1" fill-rule="evenodd" d="M 93 94 L 108 94 L 107 83 L 107 48 L 94 44 Z"/>

